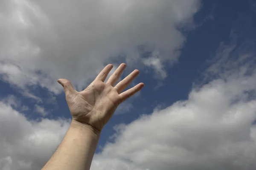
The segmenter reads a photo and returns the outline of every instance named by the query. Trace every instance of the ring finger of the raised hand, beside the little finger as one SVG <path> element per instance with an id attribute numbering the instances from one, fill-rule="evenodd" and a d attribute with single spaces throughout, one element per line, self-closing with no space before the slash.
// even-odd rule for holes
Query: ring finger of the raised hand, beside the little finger
<path id="1" fill-rule="evenodd" d="M 127 77 L 125 77 L 122 81 L 120 81 L 116 86 L 116 91 L 118 94 L 120 94 L 131 82 L 139 75 L 140 71 L 139 70 L 134 70 L 129 74 Z"/>

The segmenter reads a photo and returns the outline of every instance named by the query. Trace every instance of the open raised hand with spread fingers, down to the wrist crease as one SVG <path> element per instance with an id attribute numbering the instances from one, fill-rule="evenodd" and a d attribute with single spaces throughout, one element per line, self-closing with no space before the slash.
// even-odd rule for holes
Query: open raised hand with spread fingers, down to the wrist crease
<path id="1" fill-rule="evenodd" d="M 134 70 L 114 86 L 126 68 L 125 64 L 121 64 L 108 81 L 104 83 L 112 68 L 113 65 L 107 65 L 96 79 L 84 91 L 80 92 L 74 90 L 67 79 L 58 79 L 58 82 L 64 87 L 67 105 L 73 121 L 101 132 L 104 125 L 113 116 L 118 105 L 143 88 L 144 84 L 139 83 L 133 88 L 122 92 L 137 77 L 138 70 Z"/>

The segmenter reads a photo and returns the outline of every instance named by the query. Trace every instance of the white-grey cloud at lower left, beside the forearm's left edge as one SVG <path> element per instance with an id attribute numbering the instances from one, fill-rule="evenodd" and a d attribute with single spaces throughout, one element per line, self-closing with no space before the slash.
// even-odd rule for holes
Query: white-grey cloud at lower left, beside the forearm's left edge
<path id="1" fill-rule="evenodd" d="M 28 121 L 0 102 L 0 169 L 39 170 L 61 142 L 70 120 Z"/>

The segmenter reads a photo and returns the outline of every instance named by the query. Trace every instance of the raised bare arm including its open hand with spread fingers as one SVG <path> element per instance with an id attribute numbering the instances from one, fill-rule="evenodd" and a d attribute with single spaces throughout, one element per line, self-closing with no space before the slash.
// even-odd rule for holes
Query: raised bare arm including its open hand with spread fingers
<path id="1" fill-rule="evenodd" d="M 58 149 L 42 170 L 89 170 L 99 136 L 104 125 L 125 99 L 140 91 L 140 83 L 125 92 L 125 88 L 139 74 L 133 71 L 116 86 L 126 65 L 121 64 L 105 83 L 113 65 L 107 65 L 84 90 L 77 92 L 67 79 L 59 79 L 73 120 Z"/>

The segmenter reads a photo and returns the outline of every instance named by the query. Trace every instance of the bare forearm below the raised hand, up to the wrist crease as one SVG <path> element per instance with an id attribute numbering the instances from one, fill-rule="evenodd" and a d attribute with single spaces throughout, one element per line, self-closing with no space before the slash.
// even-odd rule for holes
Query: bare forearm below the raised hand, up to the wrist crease
<path id="1" fill-rule="evenodd" d="M 42 170 L 89 170 L 99 133 L 72 121 L 66 136 Z"/>

